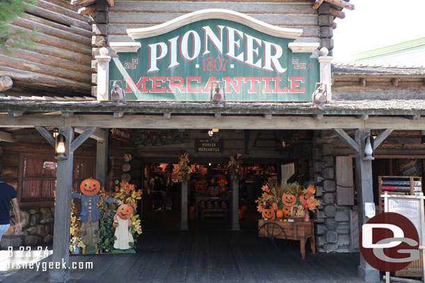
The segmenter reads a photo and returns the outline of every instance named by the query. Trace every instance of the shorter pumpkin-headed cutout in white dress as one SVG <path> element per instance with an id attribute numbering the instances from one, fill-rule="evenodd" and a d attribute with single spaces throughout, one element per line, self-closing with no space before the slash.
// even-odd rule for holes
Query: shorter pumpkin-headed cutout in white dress
<path id="1" fill-rule="evenodd" d="M 114 248 L 118 250 L 127 250 L 132 248 L 129 243 L 133 243 L 133 235 L 130 232 L 131 216 L 134 213 L 134 209 L 129 204 L 121 204 L 118 207 L 114 215 L 114 227 L 116 240 L 114 243 Z M 115 226 L 116 225 L 116 226 Z"/>

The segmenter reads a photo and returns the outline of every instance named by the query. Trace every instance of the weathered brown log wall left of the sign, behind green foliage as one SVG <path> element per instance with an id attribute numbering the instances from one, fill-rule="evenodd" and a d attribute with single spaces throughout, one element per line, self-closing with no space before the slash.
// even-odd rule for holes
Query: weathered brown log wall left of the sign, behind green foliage
<path id="1" fill-rule="evenodd" d="M 10 76 L 7 95 L 82 96 L 91 91 L 90 17 L 65 0 L 38 0 L 25 17 L 13 24 L 16 31 L 38 29 L 32 50 L 10 49 L 0 54 L 0 76 Z"/>

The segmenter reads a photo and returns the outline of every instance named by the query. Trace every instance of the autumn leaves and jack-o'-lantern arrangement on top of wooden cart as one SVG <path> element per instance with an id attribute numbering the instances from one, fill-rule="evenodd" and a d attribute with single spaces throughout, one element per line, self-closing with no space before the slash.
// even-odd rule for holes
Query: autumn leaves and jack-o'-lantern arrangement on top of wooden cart
<path id="1" fill-rule="evenodd" d="M 313 185 L 304 188 L 300 184 L 267 183 L 262 187 L 263 194 L 256 200 L 257 211 L 264 220 L 308 221 L 309 211 L 316 212 L 320 201 L 314 194 Z"/>

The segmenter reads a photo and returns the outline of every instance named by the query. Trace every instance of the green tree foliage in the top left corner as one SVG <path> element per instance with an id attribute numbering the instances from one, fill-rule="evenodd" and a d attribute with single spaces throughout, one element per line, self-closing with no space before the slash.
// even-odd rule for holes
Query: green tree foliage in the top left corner
<path id="1" fill-rule="evenodd" d="M 24 10 L 30 10 L 36 3 L 37 0 L 0 0 L 0 51 L 10 55 L 8 47 L 31 49 L 35 45 L 31 39 L 36 38 L 38 29 L 20 31 L 10 23 L 24 17 Z"/>

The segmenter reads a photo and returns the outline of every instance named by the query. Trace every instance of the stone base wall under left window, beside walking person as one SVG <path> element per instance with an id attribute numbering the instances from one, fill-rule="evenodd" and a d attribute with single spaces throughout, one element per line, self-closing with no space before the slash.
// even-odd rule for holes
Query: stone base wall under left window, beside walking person
<path id="1" fill-rule="evenodd" d="M 49 245 L 53 241 L 54 207 L 21 209 L 22 232 L 15 231 L 15 213 L 10 209 L 10 228 L 3 234 L 2 249 L 20 245 Z"/>

